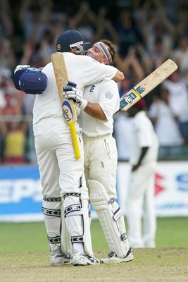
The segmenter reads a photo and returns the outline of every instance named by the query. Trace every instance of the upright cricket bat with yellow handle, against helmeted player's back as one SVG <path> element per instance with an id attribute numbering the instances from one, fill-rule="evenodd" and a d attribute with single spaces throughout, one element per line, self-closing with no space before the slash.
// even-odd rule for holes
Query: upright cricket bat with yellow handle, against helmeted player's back
<path id="1" fill-rule="evenodd" d="M 73 99 L 65 99 L 63 97 L 63 87 L 68 82 L 68 73 L 65 66 L 63 53 L 56 52 L 51 55 L 51 62 L 54 68 L 56 77 L 56 85 L 58 87 L 58 95 L 63 109 L 63 117 L 65 122 L 70 126 L 70 131 L 73 139 L 73 147 L 75 150 L 75 158 L 80 159 L 80 148 L 77 142 L 77 134 L 75 130 L 75 121 L 77 121 L 77 114 L 75 111 L 75 103 Z"/>

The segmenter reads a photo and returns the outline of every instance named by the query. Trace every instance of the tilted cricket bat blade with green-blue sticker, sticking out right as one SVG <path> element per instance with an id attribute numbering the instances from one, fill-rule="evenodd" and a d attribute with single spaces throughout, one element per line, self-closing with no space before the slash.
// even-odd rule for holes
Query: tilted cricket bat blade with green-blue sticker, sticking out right
<path id="1" fill-rule="evenodd" d="M 142 99 L 146 94 L 151 92 L 151 90 L 168 78 L 168 76 L 173 74 L 177 68 L 177 64 L 171 59 L 162 63 L 162 65 L 156 68 L 155 71 L 146 76 L 144 80 L 120 97 L 120 111 L 127 111 L 130 109 L 130 107 L 136 104 L 139 99 Z"/>

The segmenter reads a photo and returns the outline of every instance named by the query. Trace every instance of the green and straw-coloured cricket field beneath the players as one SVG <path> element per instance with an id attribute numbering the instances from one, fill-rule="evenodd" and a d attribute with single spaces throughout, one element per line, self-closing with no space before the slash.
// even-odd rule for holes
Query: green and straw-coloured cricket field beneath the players
<path id="1" fill-rule="evenodd" d="M 156 248 L 134 249 L 134 260 L 94 266 L 50 266 L 44 223 L 0 223 L 1 282 L 187 282 L 188 219 L 160 218 Z M 99 221 L 92 221 L 94 254 L 108 254 Z"/>

